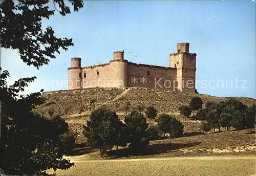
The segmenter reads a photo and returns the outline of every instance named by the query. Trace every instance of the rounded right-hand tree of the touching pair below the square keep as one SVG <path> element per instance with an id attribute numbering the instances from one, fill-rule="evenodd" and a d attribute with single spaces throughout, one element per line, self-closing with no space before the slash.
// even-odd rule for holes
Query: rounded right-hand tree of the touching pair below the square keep
<path id="1" fill-rule="evenodd" d="M 178 119 L 173 117 L 170 120 L 169 124 L 170 124 L 169 134 L 171 137 L 177 138 L 183 135 L 184 126 Z"/>

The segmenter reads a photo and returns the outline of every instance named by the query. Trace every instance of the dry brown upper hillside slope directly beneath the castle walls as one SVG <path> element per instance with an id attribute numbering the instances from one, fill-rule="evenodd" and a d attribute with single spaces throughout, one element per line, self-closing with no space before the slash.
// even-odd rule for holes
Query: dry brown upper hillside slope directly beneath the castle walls
<path id="1" fill-rule="evenodd" d="M 124 92 L 124 93 L 123 93 Z M 123 94 L 122 94 L 123 93 Z M 204 104 L 208 101 L 225 101 L 230 97 L 221 98 L 204 94 L 192 94 L 185 92 L 173 92 L 165 89 L 148 89 L 142 87 L 126 88 L 96 88 L 83 89 L 72 91 L 55 91 L 43 94 L 45 103 L 37 108 L 39 112 L 47 112 L 49 108 L 54 108 L 56 111 L 62 111 L 67 106 L 71 106 L 69 115 L 78 114 L 79 106 L 83 104 L 86 108 L 84 113 L 91 111 L 93 108 L 105 103 L 116 112 L 124 112 L 125 102 L 130 101 L 132 107 L 139 104 L 146 106 L 153 105 L 158 112 L 161 113 L 178 113 L 178 107 L 183 104 L 188 104 L 194 96 L 200 97 Z M 256 103 L 255 99 L 245 97 L 232 97 L 241 102 L 251 105 Z M 95 99 L 93 106 L 90 105 L 90 100 Z"/>

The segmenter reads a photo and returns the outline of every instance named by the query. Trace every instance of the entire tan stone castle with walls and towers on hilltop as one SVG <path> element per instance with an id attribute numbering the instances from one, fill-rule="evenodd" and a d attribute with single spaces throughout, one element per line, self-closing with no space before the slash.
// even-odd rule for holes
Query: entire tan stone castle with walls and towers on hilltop
<path id="1" fill-rule="evenodd" d="M 189 53 L 189 43 L 177 43 L 177 53 L 169 55 L 169 67 L 128 62 L 124 51 L 114 52 L 108 63 L 89 67 L 81 67 L 81 58 L 71 58 L 69 90 L 142 86 L 195 93 L 196 56 Z"/>

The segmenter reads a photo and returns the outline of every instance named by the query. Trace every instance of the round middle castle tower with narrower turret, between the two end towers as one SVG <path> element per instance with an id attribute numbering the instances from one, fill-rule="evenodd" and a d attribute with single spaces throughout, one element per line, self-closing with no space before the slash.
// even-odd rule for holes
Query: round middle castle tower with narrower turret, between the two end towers
<path id="1" fill-rule="evenodd" d="M 112 68 L 113 87 L 127 86 L 127 60 L 123 59 L 124 51 L 113 52 Z"/>

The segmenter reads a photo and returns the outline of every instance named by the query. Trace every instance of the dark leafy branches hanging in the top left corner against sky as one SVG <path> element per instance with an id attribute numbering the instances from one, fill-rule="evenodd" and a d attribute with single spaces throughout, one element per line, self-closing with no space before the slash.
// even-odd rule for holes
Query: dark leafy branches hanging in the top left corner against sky
<path id="1" fill-rule="evenodd" d="M 82 0 L 6 0 L 1 4 L 1 47 L 16 50 L 20 59 L 37 69 L 55 58 L 59 49 L 68 50 L 73 46 L 71 38 L 58 38 L 52 27 L 42 28 L 42 20 L 50 19 L 56 11 L 65 16 L 83 7 Z M 50 4 L 54 6 L 50 8 Z"/>

